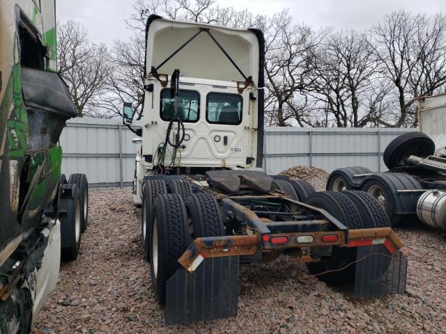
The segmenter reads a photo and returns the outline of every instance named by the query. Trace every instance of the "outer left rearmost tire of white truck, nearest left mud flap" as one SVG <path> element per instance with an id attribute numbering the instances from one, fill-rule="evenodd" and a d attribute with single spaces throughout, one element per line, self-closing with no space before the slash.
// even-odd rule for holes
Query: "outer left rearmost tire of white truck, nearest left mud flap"
<path id="1" fill-rule="evenodd" d="M 183 198 L 178 194 L 157 196 L 150 229 L 152 287 L 155 299 L 164 306 L 167 280 L 180 268 L 178 258 L 192 244 Z"/>

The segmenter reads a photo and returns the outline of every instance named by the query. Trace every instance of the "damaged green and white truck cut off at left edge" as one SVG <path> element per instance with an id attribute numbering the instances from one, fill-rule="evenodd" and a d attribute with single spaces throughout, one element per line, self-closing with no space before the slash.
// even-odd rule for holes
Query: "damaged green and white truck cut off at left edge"
<path id="1" fill-rule="evenodd" d="M 54 0 L 0 2 L 0 333 L 29 333 L 74 260 L 88 218 L 83 174 L 61 175 L 77 116 L 56 73 Z"/>

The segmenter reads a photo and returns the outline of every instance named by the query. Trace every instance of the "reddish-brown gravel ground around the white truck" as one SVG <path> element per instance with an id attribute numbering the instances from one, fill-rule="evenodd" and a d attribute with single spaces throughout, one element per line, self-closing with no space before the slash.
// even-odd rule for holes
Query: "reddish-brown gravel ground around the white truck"
<path id="1" fill-rule="evenodd" d="M 238 317 L 164 325 L 129 190 L 91 191 L 81 254 L 64 263 L 33 333 L 446 333 L 446 233 L 398 229 L 408 293 L 353 301 L 282 256 L 240 269 Z"/>

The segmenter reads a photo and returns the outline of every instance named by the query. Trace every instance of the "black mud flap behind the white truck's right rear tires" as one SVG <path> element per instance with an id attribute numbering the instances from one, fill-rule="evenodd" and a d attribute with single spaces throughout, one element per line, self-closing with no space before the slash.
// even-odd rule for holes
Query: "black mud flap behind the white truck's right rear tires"
<path id="1" fill-rule="evenodd" d="M 397 250 L 390 253 L 383 244 L 357 247 L 355 298 L 404 294 L 407 258 Z"/>

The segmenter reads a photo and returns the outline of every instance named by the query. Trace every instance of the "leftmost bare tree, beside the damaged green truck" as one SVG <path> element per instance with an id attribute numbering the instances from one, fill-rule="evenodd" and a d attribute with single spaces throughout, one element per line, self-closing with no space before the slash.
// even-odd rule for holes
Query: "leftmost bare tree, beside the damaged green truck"
<path id="1" fill-rule="evenodd" d="M 59 74 L 70 88 L 77 115 L 107 117 L 96 106 L 111 69 L 107 47 L 90 42 L 79 22 L 59 22 L 57 29 Z"/>

